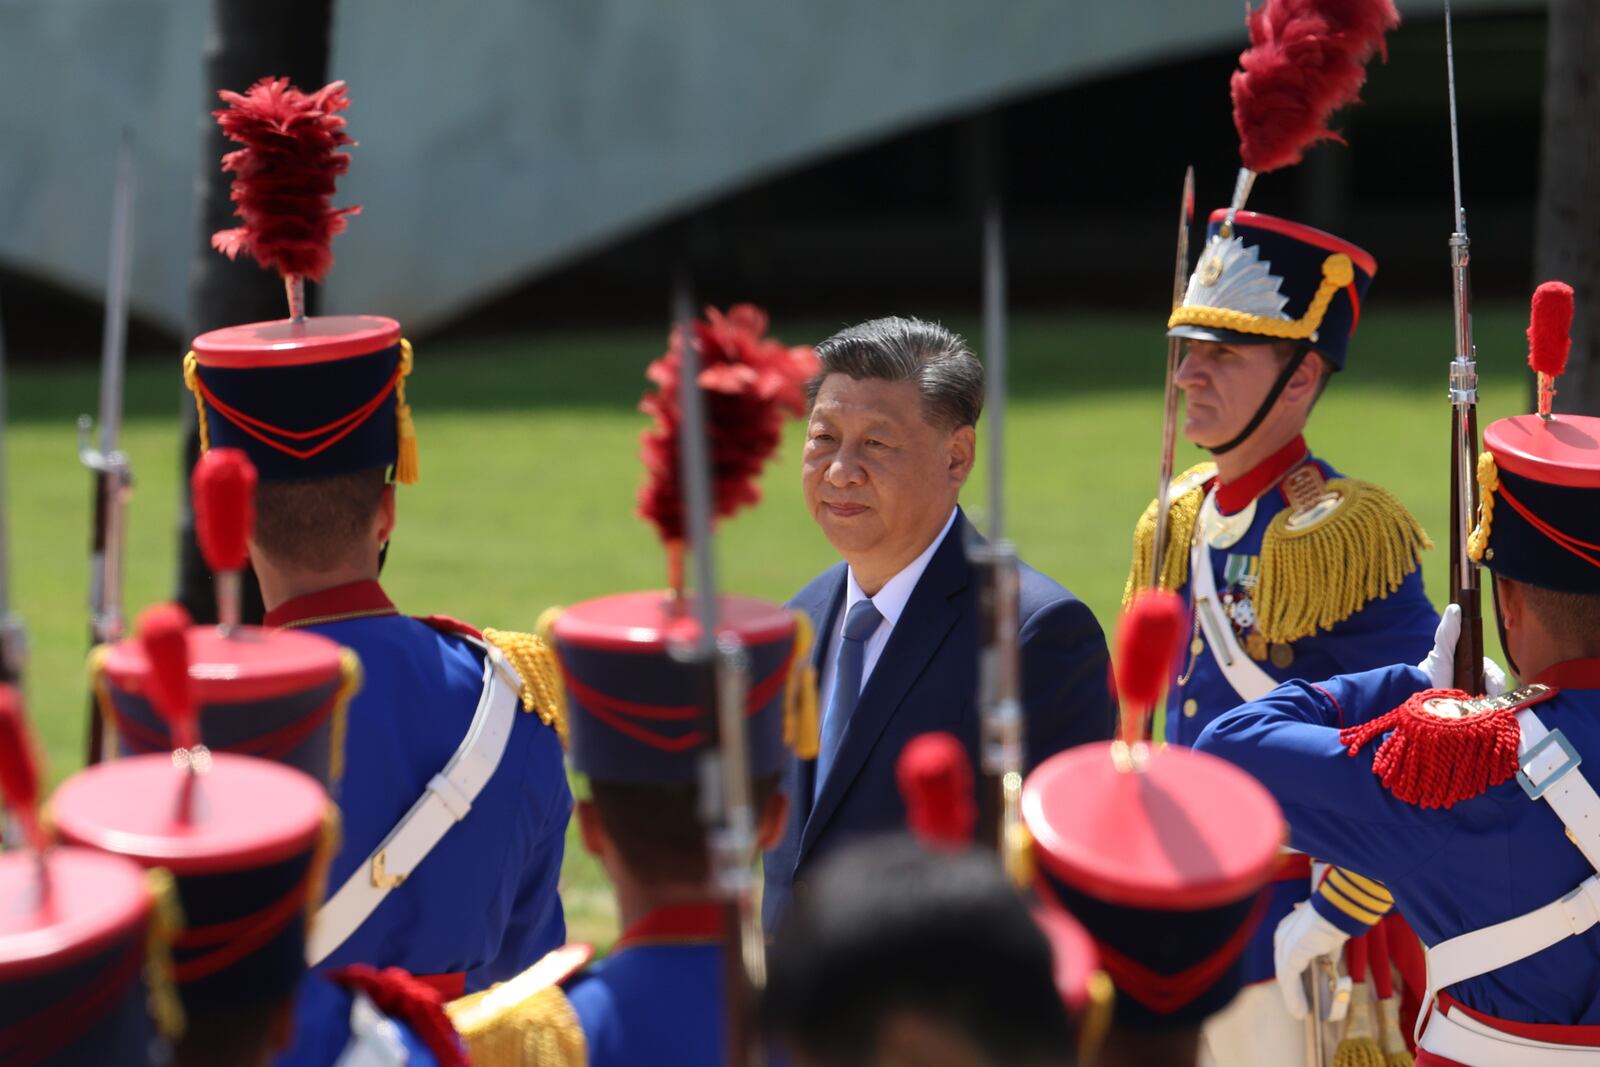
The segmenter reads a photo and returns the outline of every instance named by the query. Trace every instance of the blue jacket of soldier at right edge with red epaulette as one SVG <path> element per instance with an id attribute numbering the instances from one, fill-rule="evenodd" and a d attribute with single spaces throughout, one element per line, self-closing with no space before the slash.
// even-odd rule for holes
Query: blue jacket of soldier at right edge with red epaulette
<path id="1" fill-rule="evenodd" d="M 1558 664 L 1533 681 L 1560 689 L 1534 709 L 1544 725 L 1566 734 L 1581 757 L 1600 755 L 1600 661 Z M 1341 728 L 1426 688 L 1414 667 L 1291 681 L 1219 717 L 1195 747 L 1261 779 L 1283 806 L 1296 848 L 1381 880 L 1422 942 L 1435 945 L 1549 904 L 1594 869 L 1549 805 L 1517 779 L 1424 809 L 1395 798 L 1373 773 L 1378 741 L 1346 752 Z M 1498 1019 L 1597 1025 L 1600 926 L 1448 992 Z"/>

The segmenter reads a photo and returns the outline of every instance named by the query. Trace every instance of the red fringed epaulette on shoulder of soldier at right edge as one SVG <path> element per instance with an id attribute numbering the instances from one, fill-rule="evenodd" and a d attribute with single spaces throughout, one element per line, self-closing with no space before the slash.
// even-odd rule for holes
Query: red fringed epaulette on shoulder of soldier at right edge
<path id="1" fill-rule="evenodd" d="M 1474 697 L 1461 689 L 1422 689 L 1387 715 L 1341 729 L 1339 744 L 1354 757 L 1387 733 L 1373 753 L 1373 774 L 1384 789 L 1418 808 L 1450 808 L 1517 774 L 1517 712 L 1557 691 L 1530 685 Z"/>

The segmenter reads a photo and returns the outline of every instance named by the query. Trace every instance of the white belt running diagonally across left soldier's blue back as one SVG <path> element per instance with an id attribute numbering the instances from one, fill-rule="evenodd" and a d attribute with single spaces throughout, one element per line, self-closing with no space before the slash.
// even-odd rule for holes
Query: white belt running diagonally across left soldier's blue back
<path id="1" fill-rule="evenodd" d="M 472 811 L 472 801 L 494 776 L 510 739 L 520 704 L 522 680 L 491 645 L 483 649 L 483 694 L 472 725 L 438 774 L 427 782 L 411 809 L 357 867 L 328 902 L 317 910 L 306 939 L 306 961 L 320 965 L 350 939 L 378 910 L 389 891 L 403 883 L 434 846 Z"/>

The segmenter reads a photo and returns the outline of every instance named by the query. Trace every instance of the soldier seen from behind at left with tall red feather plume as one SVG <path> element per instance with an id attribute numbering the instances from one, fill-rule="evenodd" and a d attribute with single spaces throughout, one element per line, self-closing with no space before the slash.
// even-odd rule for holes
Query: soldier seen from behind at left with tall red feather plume
<path id="1" fill-rule="evenodd" d="M 266 624 L 354 651 L 365 675 L 346 715 L 344 838 L 307 957 L 400 966 L 459 995 L 565 941 L 571 793 L 544 686 L 554 659 L 530 635 L 403 616 L 379 584 L 395 485 L 418 477 L 411 346 L 392 318 L 307 318 L 301 298 L 349 211 L 330 205 L 349 163 L 344 86 L 269 78 L 222 98 L 224 133 L 243 146 L 224 166 L 245 226 L 213 243 L 278 270 L 290 318 L 195 338 L 184 381 L 202 450 L 238 448 L 259 475 L 250 561 Z"/>

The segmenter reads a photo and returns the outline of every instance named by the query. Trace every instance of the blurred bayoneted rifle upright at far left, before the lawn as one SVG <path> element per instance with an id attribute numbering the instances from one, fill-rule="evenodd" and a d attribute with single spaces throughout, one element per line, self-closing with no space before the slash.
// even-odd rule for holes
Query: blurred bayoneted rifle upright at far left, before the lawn
<path id="1" fill-rule="evenodd" d="M 117 446 L 122 430 L 122 370 L 128 355 L 128 267 L 133 246 L 133 134 L 126 130 L 117 150 L 112 194 L 110 267 L 106 278 L 106 325 L 101 334 L 99 446 L 93 421 L 78 416 L 78 462 L 94 485 L 94 525 L 90 533 L 90 646 L 117 641 L 123 633 L 122 552 L 133 467 Z M 99 763 L 104 726 L 90 693 L 88 763 Z"/>

